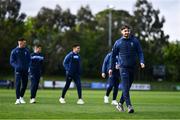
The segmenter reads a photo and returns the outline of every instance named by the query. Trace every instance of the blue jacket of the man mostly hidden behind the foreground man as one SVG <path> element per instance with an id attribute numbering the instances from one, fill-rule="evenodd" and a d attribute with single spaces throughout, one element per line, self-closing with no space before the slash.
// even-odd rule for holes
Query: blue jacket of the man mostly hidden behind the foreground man
<path id="1" fill-rule="evenodd" d="M 104 58 L 104 61 L 103 61 L 103 65 L 102 65 L 102 73 L 105 73 L 105 74 L 108 74 L 108 71 L 109 69 L 111 68 L 111 64 L 110 64 L 110 59 L 112 57 L 112 52 L 108 53 L 106 55 L 106 57 Z M 116 60 L 115 60 L 116 64 L 119 64 L 118 62 L 118 56 L 116 56 Z M 119 74 L 119 71 L 117 69 L 115 69 L 117 72 L 117 74 Z"/>

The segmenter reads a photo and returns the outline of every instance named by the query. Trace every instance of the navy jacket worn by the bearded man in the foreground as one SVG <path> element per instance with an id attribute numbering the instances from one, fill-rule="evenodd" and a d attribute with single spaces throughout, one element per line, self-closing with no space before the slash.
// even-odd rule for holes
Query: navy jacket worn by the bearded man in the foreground
<path id="1" fill-rule="evenodd" d="M 137 56 L 140 63 L 144 63 L 144 55 L 138 39 L 130 36 L 128 39 L 121 37 L 113 46 L 111 68 L 115 67 L 116 55 L 119 57 L 120 68 L 134 68 Z"/>

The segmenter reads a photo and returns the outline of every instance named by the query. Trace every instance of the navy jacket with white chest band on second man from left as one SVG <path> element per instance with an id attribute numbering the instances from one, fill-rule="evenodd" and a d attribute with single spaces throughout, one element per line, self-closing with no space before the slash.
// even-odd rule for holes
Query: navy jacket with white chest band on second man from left
<path id="1" fill-rule="evenodd" d="M 30 61 L 30 72 L 40 72 L 42 71 L 44 57 L 41 53 L 32 53 Z"/>

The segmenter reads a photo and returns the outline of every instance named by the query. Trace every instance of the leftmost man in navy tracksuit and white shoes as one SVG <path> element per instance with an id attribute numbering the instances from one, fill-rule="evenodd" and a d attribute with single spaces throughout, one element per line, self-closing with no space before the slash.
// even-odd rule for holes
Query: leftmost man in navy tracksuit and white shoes
<path id="1" fill-rule="evenodd" d="M 20 38 L 18 39 L 18 46 L 11 51 L 10 55 L 10 64 L 15 70 L 16 105 L 26 103 L 23 96 L 28 83 L 29 63 L 30 53 L 28 48 L 26 48 L 26 40 L 24 38 Z"/>

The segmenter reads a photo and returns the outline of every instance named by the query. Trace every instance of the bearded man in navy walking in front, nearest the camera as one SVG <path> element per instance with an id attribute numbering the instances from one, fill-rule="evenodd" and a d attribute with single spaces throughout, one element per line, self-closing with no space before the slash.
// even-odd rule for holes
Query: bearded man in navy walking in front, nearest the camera
<path id="1" fill-rule="evenodd" d="M 134 81 L 134 68 L 136 66 L 136 57 L 138 56 L 141 68 L 145 67 L 144 55 L 139 40 L 130 34 L 130 28 L 124 25 L 121 28 L 122 37 L 117 40 L 113 46 L 111 69 L 109 74 L 112 75 L 115 67 L 116 56 L 120 59 L 120 75 L 122 84 L 122 96 L 116 108 L 124 111 L 123 103 L 126 102 L 128 113 L 134 113 L 131 104 L 129 90 Z"/>

